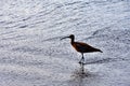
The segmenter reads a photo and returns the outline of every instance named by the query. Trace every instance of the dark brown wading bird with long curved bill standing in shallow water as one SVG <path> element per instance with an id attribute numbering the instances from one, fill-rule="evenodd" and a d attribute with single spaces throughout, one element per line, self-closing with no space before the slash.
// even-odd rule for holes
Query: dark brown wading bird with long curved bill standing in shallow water
<path id="1" fill-rule="evenodd" d="M 82 43 L 82 42 L 75 42 L 75 35 L 74 34 L 70 34 L 69 37 L 64 37 L 61 40 L 66 39 L 66 38 L 69 38 L 72 40 L 70 44 L 73 45 L 73 47 L 77 52 L 81 53 L 82 57 L 81 57 L 79 63 L 83 63 L 83 61 L 84 61 L 83 53 L 93 53 L 93 52 L 103 53 L 101 49 L 92 47 L 89 44 L 86 44 L 86 43 Z"/>

